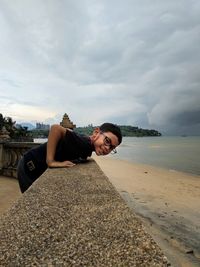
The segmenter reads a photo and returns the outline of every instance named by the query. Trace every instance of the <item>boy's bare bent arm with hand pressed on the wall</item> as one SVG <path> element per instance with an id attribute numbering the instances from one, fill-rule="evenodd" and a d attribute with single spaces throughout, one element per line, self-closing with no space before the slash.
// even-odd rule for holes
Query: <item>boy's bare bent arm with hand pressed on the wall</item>
<path id="1" fill-rule="evenodd" d="M 66 128 L 58 124 L 51 126 L 47 142 L 46 162 L 48 167 L 71 167 L 75 165 L 71 161 L 59 162 L 54 160 L 57 144 L 65 136 L 66 131 L 68 131 Z"/>

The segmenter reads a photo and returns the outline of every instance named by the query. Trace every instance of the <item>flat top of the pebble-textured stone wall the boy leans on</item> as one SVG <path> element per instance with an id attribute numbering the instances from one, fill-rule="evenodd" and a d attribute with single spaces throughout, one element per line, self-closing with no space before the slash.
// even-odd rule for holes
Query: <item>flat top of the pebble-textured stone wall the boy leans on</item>
<path id="1" fill-rule="evenodd" d="M 48 169 L 1 217 L 0 266 L 168 266 L 95 161 Z"/>

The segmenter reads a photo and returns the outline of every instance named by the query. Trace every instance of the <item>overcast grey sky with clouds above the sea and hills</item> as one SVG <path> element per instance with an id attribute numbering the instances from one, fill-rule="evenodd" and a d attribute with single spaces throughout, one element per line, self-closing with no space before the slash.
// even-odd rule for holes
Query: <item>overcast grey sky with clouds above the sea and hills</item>
<path id="1" fill-rule="evenodd" d="M 200 134 L 199 0 L 0 0 L 0 113 Z"/>

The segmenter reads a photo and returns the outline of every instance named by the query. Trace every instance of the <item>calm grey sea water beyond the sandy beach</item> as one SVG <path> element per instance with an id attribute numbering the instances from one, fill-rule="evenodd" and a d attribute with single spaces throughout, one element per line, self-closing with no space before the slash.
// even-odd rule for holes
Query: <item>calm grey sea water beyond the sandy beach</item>
<path id="1" fill-rule="evenodd" d="M 200 136 L 123 137 L 109 157 L 200 175 Z"/>

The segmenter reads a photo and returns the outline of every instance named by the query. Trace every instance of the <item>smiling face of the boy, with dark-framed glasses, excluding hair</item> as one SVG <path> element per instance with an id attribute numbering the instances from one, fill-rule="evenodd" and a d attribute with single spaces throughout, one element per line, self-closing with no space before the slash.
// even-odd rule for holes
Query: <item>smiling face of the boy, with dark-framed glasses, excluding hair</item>
<path id="1" fill-rule="evenodd" d="M 116 135 L 112 132 L 101 132 L 99 128 L 93 132 L 92 141 L 97 156 L 107 155 L 119 145 Z"/>

